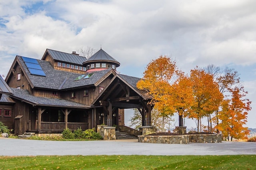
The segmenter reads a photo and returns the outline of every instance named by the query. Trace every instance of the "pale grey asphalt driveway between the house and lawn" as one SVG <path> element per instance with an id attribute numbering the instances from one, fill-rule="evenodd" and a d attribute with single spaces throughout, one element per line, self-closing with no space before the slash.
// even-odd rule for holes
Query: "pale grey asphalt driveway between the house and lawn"
<path id="1" fill-rule="evenodd" d="M 0 137 L 0 156 L 36 155 L 234 155 L 256 154 L 256 143 L 222 142 L 190 144 L 115 141 L 37 141 Z"/>

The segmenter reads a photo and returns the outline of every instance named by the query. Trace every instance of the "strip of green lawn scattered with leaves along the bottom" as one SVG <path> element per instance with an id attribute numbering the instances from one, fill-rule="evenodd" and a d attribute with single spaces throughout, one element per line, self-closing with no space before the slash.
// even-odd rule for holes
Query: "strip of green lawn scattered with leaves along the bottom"
<path id="1" fill-rule="evenodd" d="M 3 170 L 151 170 L 151 169 L 240 169 L 253 170 L 256 155 L 225 156 L 0 156 Z"/>

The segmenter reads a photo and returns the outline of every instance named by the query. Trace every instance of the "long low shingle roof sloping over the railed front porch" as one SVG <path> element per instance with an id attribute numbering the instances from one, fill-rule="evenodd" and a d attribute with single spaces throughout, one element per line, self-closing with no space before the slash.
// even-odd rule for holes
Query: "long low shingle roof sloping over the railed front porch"
<path id="1" fill-rule="evenodd" d="M 14 92 L 14 95 L 11 96 L 11 98 L 22 100 L 29 104 L 33 104 L 34 106 L 90 108 L 90 106 L 79 104 L 79 103 L 68 101 L 68 100 L 32 96 L 29 94 L 28 90 L 17 89 L 17 88 L 11 88 L 11 89 Z"/>

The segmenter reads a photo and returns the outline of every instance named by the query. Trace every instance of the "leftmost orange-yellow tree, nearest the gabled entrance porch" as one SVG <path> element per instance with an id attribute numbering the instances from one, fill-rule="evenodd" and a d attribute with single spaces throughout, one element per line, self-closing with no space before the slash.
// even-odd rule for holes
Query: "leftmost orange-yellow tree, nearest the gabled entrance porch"
<path id="1" fill-rule="evenodd" d="M 143 79 L 137 83 L 138 89 L 147 90 L 152 95 L 151 104 L 162 116 L 162 131 L 165 125 L 164 117 L 175 112 L 174 103 L 171 100 L 172 84 L 180 74 L 174 60 L 167 56 L 160 56 L 147 65 Z"/>

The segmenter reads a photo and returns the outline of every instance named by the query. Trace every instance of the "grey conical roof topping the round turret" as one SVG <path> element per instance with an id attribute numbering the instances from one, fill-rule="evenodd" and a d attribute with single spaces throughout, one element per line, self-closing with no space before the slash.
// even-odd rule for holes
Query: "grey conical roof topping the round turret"
<path id="1" fill-rule="evenodd" d="M 106 53 L 102 49 L 100 49 L 94 55 L 89 57 L 86 61 L 84 61 L 83 64 L 97 62 L 97 61 L 112 62 L 117 64 L 116 67 L 120 66 L 120 63 L 116 59 L 111 57 L 108 53 Z"/>

